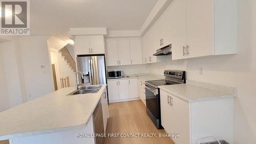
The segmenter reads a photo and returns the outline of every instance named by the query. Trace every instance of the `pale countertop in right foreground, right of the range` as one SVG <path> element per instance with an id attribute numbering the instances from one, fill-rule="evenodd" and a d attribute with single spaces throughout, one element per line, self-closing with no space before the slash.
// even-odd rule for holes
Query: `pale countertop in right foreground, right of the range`
<path id="1" fill-rule="evenodd" d="M 236 88 L 188 81 L 186 84 L 159 86 L 176 97 L 187 102 L 204 101 L 210 99 L 236 97 Z"/>

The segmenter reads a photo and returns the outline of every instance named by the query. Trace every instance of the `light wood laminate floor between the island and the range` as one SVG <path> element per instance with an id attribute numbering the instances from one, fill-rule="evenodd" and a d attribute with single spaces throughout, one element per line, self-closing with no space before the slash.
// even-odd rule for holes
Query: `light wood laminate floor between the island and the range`
<path id="1" fill-rule="evenodd" d="M 106 133 L 159 133 L 150 117 L 147 116 L 145 105 L 141 100 L 111 103 Z M 174 143 L 169 137 L 107 137 L 106 144 L 113 143 Z"/>

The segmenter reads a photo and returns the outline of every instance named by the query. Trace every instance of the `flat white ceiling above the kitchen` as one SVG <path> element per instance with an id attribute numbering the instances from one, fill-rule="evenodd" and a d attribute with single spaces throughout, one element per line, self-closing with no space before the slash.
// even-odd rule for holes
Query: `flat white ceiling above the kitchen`
<path id="1" fill-rule="evenodd" d="M 53 35 L 69 28 L 139 30 L 157 0 L 32 0 L 31 35 Z"/>

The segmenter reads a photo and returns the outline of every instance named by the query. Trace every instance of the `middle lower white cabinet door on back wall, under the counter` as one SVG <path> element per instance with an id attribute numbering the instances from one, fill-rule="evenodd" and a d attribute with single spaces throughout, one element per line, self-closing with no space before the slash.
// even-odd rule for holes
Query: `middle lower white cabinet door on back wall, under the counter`
<path id="1" fill-rule="evenodd" d="M 119 84 L 119 99 L 129 99 L 129 80 L 118 80 Z"/>

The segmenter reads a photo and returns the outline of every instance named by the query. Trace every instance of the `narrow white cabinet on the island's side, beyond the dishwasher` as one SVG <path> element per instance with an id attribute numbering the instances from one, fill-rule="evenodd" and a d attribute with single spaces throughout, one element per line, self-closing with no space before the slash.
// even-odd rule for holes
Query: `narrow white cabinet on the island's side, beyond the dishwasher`
<path id="1" fill-rule="evenodd" d="M 106 94 L 106 89 L 101 95 L 101 104 L 102 104 L 104 132 L 106 133 L 106 124 L 108 123 L 108 118 L 109 118 L 108 94 Z"/>

